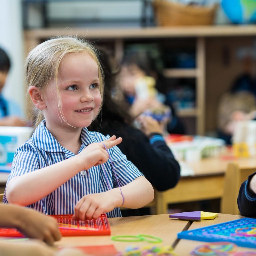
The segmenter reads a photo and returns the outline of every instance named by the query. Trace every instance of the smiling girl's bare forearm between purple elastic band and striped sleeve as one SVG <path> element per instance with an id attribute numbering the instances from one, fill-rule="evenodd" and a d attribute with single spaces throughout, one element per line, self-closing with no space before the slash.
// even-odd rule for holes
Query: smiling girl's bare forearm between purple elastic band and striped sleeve
<path id="1" fill-rule="evenodd" d="M 122 206 L 126 208 L 140 208 L 154 199 L 154 189 L 144 176 L 140 176 L 129 184 L 121 187 L 121 190 L 124 195 L 124 204 Z"/>

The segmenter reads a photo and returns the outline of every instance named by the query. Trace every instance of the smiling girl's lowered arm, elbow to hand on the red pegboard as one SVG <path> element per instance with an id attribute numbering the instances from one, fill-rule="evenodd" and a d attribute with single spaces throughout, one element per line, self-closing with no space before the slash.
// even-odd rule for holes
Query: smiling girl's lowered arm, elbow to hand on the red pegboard
<path id="1" fill-rule="evenodd" d="M 109 212 L 115 207 L 140 208 L 154 199 L 154 190 L 149 181 L 140 176 L 119 188 L 114 188 L 103 193 L 85 195 L 75 206 L 74 219 L 96 219 L 103 212 Z M 123 203 L 123 204 L 122 204 Z"/>

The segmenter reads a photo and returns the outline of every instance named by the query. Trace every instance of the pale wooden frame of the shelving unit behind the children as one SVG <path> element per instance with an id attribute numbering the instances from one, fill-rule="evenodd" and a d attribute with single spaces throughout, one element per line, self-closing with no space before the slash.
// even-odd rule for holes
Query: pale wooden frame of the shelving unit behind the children
<path id="1" fill-rule="evenodd" d="M 24 31 L 25 52 L 47 38 L 56 35 L 77 35 L 92 42 L 104 40 L 114 45 L 114 55 L 121 60 L 126 40 L 162 40 L 172 38 L 195 38 L 196 68 L 165 69 L 169 78 L 195 78 L 196 108 L 178 110 L 181 117 L 196 118 L 196 133 L 205 133 L 205 102 L 206 102 L 206 39 L 209 37 L 256 36 L 256 25 L 248 26 L 189 26 L 189 27 L 148 27 L 148 28 L 49 28 Z"/>

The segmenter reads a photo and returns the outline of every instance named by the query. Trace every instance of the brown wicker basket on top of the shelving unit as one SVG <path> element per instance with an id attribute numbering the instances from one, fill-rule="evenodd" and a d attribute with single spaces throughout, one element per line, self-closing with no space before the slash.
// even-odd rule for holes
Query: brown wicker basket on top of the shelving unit
<path id="1" fill-rule="evenodd" d="M 217 5 L 184 5 L 167 0 L 154 0 L 153 7 L 159 26 L 211 25 L 217 9 Z"/>

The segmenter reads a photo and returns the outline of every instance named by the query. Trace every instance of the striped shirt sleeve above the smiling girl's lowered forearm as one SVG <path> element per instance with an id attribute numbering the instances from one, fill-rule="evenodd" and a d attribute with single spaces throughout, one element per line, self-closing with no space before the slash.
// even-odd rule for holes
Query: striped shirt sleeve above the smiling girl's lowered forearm
<path id="1" fill-rule="evenodd" d="M 117 179 L 120 186 L 124 186 L 139 176 L 144 176 L 132 162 L 127 160 L 126 156 L 117 146 L 110 149 L 110 158 L 113 163 L 111 168 L 114 188 L 118 187 Z"/>

